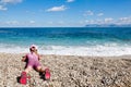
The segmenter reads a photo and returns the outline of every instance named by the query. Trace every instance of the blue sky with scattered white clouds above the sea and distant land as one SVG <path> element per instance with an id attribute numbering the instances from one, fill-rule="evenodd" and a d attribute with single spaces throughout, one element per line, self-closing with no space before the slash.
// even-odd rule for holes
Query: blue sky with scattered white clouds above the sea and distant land
<path id="1" fill-rule="evenodd" d="M 131 24 L 131 0 L 0 0 L 0 27 Z"/>

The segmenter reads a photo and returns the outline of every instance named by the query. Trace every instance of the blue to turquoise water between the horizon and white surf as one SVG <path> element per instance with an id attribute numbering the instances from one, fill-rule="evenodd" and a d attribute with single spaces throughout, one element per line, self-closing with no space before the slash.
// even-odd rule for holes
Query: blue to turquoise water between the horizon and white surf
<path id="1" fill-rule="evenodd" d="M 0 48 L 2 49 L 14 46 L 27 48 L 32 44 L 43 50 L 48 50 L 47 46 L 128 47 L 131 45 L 131 27 L 0 28 Z M 53 50 L 53 48 L 50 49 Z"/>

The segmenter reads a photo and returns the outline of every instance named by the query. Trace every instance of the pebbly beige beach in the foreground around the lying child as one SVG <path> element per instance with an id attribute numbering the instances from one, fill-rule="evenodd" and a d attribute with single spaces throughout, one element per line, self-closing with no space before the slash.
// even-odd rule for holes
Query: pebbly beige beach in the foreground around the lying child
<path id="1" fill-rule="evenodd" d="M 43 55 L 40 62 L 50 69 L 51 79 L 43 80 L 32 71 L 26 86 L 17 83 L 25 65 L 22 55 L 0 53 L 0 87 L 131 87 L 131 55 Z"/>

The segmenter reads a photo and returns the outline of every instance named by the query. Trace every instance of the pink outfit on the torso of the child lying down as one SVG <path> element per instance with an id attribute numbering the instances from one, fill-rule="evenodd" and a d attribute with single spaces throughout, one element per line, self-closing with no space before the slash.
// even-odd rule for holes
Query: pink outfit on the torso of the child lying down
<path id="1" fill-rule="evenodd" d="M 26 58 L 27 58 L 27 60 L 28 60 L 28 62 L 27 62 L 27 66 L 32 66 L 32 67 L 37 67 L 37 66 L 40 66 L 40 63 L 39 63 L 39 61 L 38 61 L 38 55 L 37 54 L 35 54 L 35 53 L 28 53 L 28 54 L 26 54 Z"/>

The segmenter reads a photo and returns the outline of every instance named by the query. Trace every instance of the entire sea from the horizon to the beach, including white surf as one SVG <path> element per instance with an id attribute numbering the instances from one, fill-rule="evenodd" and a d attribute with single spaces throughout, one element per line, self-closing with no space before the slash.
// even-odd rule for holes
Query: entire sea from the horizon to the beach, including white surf
<path id="1" fill-rule="evenodd" d="M 131 27 L 1 27 L 0 52 L 118 57 L 131 54 Z"/>

